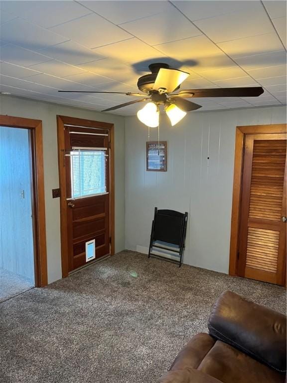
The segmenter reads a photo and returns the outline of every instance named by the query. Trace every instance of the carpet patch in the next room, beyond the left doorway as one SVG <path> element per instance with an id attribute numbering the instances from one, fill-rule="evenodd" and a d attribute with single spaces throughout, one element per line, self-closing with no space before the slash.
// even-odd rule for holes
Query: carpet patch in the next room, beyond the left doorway
<path id="1" fill-rule="evenodd" d="M 31 289 L 33 282 L 0 267 L 0 302 Z"/>

